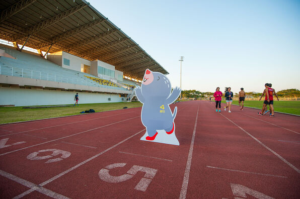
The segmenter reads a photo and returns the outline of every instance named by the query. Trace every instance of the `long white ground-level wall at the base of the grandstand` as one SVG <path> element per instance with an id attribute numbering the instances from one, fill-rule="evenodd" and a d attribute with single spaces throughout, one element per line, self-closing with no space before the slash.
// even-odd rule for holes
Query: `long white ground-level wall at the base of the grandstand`
<path id="1" fill-rule="evenodd" d="M 119 94 L 78 92 L 79 104 L 123 102 Z M 41 106 L 74 104 L 76 91 L 0 87 L 0 105 Z M 108 98 L 111 101 L 108 101 Z"/>

